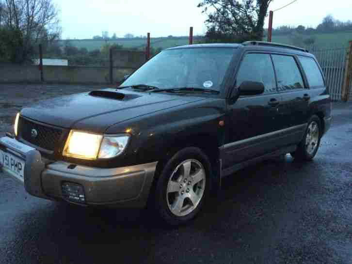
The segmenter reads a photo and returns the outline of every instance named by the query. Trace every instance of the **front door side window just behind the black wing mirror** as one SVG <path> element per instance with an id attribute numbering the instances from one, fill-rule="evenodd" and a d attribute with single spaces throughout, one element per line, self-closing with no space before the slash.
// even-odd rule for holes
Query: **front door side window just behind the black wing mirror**
<path id="1" fill-rule="evenodd" d="M 247 54 L 240 65 L 237 73 L 237 86 L 244 81 L 257 81 L 264 83 L 264 93 L 276 93 L 276 82 L 272 60 L 269 54 Z"/>

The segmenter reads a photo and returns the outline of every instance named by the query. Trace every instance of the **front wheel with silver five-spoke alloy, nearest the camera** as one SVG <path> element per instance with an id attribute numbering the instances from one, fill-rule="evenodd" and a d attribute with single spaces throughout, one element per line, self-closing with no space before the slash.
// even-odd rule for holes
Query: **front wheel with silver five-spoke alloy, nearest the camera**
<path id="1" fill-rule="evenodd" d="M 164 222 L 184 224 L 199 213 L 209 196 L 210 171 L 207 155 L 195 147 L 166 162 L 155 189 L 155 209 Z"/>

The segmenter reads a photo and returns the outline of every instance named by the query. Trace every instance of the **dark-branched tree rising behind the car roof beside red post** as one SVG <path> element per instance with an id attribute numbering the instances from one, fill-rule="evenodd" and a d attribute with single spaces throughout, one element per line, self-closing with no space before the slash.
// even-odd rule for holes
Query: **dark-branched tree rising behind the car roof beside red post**
<path id="1" fill-rule="evenodd" d="M 262 40 L 264 19 L 272 0 L 202 0 L 198 7 L 208 15 L 208 36 L 225 41 Z M 219 39 L 218 39 L 219 40 Z M 221 41 L 221 39 L 220 39 Z"/>

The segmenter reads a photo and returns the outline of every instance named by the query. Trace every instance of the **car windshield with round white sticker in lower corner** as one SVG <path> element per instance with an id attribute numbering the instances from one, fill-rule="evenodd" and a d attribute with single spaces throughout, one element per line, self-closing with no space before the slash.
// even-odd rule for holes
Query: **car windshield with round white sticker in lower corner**
<path id="1" fill-rule="evenodd" d="M 160 52 L 121 86 L 150 85 L 160 89 L 182 87 L 220 91 L 233 48 L 181 48 Z"/>

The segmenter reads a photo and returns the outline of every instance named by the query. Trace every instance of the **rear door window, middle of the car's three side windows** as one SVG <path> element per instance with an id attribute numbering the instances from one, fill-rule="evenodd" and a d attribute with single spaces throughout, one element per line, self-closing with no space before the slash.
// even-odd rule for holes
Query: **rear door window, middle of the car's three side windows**
<path id="1" fill-rule="evenodd" d="M 272 55 L 272 61 L 275 65 L 278 91 L 304 88 L 301 72 L 292 56 Z"/>

